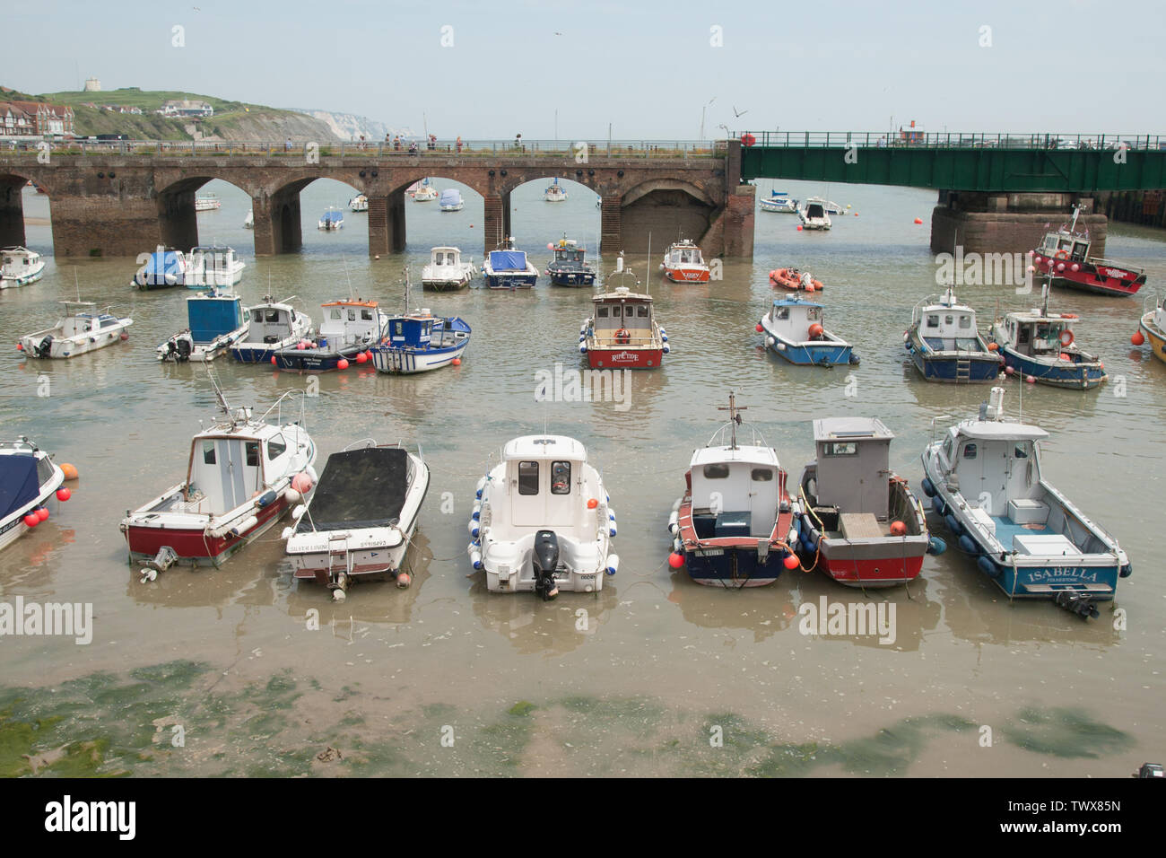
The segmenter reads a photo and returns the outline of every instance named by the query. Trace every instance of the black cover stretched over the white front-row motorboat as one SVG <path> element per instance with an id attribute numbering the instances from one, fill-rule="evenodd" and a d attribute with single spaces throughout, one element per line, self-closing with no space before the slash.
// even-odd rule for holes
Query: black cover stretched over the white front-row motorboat
<path id="1" fill-rule="evenodd" d="M 409 490 L 409 454 L 400 447 L 332 453 L 296 532 L 384 528 L 400 518 Z"/>

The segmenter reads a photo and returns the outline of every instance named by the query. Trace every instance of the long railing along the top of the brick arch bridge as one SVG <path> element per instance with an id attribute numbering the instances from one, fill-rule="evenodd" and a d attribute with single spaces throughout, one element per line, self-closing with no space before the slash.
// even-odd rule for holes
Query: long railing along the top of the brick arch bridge
<path id="1" fill-rule="evenodd" d="M 5 152 L 36 152 L 40 139 L 7 138 L 0 140 Z M 604 159 L 663 159 L 708 158 L 724 155 L 725 140 L 438 140 L 430 148 L 419 144 L 410 151 L 408 142 L 393 141 L 318 144 L 298 140 L 274 142 L 241 142 L 227 140 L 51 140 L 57 154 L 128 155 L 128 156 L 267 156 L 303 159 L 308 154 L 321 158 L 571 158 L 580 163 Z M 585 161 L 583 160 L 585 156 Z"/>

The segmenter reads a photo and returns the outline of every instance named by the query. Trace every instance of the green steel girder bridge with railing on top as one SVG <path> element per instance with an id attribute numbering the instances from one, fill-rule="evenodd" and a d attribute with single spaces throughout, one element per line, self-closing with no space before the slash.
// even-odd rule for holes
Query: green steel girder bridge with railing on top
<path id="1" fill-rule="evenodd" d="M 744 132 L 740 177 L 981 193 L 1166 188 L 1166 137 Z"/>

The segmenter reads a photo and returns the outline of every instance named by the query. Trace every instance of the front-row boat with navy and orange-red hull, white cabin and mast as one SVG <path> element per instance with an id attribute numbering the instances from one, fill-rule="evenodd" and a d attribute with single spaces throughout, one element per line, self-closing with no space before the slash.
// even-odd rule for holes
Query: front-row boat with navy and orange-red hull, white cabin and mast
<path id="1" fill-rule="evenodd" d="M 697 584 L 760 587 L 784 568 L 796 568 L 794 530 L 798 505 L 786 488 L 778 454 L 750 426 L 749 444 L 737 442 L 740 412 L 729 393 L 729 423 L 693 453 L 684 472 L 684 495 L 673 504 L 669 565 L 687 566 Z"/>

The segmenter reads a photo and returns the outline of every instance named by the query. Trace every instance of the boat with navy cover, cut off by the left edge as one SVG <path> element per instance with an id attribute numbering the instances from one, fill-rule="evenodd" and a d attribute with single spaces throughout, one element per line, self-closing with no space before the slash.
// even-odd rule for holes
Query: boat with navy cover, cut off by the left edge
<path id="1" fill-rule="evenodd" d="M 61 488 L 65 475 L 52 459 L 28 438 L 0 441 L 0 549 L 49 517 L 48 502 L 69 500 Z"/>

